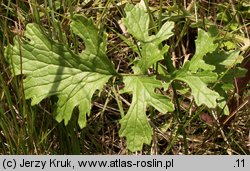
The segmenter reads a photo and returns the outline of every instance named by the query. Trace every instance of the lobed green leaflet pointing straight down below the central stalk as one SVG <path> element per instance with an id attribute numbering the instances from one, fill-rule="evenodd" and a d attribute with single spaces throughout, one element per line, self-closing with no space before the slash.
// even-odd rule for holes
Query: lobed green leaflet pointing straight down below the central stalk
<path id="1" fill-rule="evenodd" d="M 119 135 L 127 138 L 127 147 L 131 151 L 142 149 L 143 144 L 150 144 L 152 128 L 146 115 L 147 106 L 153 106 L 159 112 L 173 111 L 174 106 L 166 96 L 155 93 L 162 87 L 161 81 L 155 77 L 126 76 L 123 92 L 132 92 L 132 103 L 127 114 L 121 119 Z"/>

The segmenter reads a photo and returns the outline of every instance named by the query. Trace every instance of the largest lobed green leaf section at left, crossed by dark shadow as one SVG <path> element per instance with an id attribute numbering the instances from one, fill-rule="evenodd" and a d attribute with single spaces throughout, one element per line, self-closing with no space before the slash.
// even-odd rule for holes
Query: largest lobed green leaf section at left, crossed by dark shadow
<path id="1" fill-rule="evenodd" d="M 32 100 L 32 105 L 57 95 L 57 121 L 64 120 L 67 124 L 73 109 L 78 107 L 78 123 L 83 128 L 86 114 L 90 114 L 93 94 L 102 90 L 116 71 L 105 54 L 106 36 L 99 33 L 92 20 L 75 15 L 71 29 L 84 40 L 86 49 L 82 53 L 73 53 L 50 39 L 38 25 L 28 24 L 26 39 L 20 44 L 15 40 L 11 48 L 11 59 L 14 74 L 26 76 L 25 96 Z"/>

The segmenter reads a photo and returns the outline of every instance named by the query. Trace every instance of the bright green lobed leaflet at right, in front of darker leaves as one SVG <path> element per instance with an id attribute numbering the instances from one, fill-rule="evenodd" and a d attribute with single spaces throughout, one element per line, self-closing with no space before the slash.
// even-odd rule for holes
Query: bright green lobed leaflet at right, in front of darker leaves
<path id="1" fill-rule="evenodd" d="M 173 79 L 188 84 L 198 106 L 206 105 L 209 108 L 215 108 L 218 99 L 221 99 L 218 92 L 209 88 L 209 83 L 215 83 L 218 79 L 218 74 L 212 72 L 215 70 L 215 66 L 204 60 L 207 54 L 217 49 L 218 44 L 215 43 L 215 40 L 216 29 L 214 27 L 211 27 L 208 32 L 198 29 L 194 56 L 173 74 Z"/>

